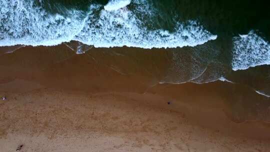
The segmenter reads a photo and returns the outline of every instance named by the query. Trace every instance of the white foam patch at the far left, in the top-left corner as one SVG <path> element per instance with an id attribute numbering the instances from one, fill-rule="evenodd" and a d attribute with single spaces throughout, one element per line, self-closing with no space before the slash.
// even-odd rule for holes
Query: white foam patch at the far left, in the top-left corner
<path id="1" fill-rule="evenodd" d="M 0 46 L 70 41 L 81 29 L 80 16 L 78 10 L 67 11 L 66 16 L 48 14 L 34 0 L 0 0 Z"/>

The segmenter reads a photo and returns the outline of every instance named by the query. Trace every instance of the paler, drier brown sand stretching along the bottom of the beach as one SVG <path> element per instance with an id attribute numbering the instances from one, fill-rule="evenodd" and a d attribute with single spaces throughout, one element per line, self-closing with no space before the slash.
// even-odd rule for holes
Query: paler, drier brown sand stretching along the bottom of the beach
<path id="1" fill-rule="evenodd" d="M 269 138 L 224 133 L 241 132 L 248 123 L 232 123 L 216 108 L 205 111 L 215 113 L 219 121 L 213 122 L 213 116 L 204 120 L 211 124 L 226 122 L 224 130 L 195 125 L 184 108 L 173 108 L 187 105 L 176 101 L 167 104 L 163 97 L 150 93 L 84 94 L 40 89 L 8 93 L 7 97 L 0 104 L 0 151 L 15 151 L 19 145 L 23 145 L 20 151 L 270 149 Z M 266 126 L 261 129 L 269 130 Z"/>

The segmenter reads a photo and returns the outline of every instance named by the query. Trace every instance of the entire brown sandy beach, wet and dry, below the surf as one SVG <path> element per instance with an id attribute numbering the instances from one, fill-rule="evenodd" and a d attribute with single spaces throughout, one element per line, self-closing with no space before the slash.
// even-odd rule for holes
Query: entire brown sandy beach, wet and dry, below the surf
<path id="1" fill-rule="evenodd" d="M 169 58 L 63 45 L 1 54 L 0 151 L 269 151 L 269 98 L 221 81 L 159 84 Z"/>

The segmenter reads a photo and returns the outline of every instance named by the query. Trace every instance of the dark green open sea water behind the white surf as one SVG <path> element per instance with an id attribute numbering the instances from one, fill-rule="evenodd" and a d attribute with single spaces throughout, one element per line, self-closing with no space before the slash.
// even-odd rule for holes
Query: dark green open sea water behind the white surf
<path id="1" fill-rule="evenodd" d="M 108 0 L 42 0 L 39 5 L 50 13 L 64 13 L 63 8 L 88 11 L 92 3 L 105 5 Z M 147 0 L 157 10 L 151 23 L 171 30 L 174 20 L 198 20 L 212 33 L 237 35 L 259 30 L 270 36 L 270 6 L 267 0 Z M 128 5 L 132 10 L 133 5 Z M 145 10 L 147 11 L 147 10 Z M 137 14 L 138 16 L 140 14 Z M 149 25 L 152 26 L 152 25 Z"/>

